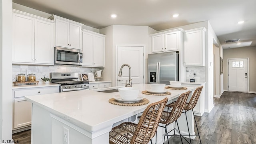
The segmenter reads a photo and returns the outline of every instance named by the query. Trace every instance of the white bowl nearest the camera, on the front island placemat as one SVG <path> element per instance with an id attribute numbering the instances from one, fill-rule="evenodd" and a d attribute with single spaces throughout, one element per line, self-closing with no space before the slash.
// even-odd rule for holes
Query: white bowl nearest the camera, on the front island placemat
<path id="1" fill-rule="evenodd" d="M 140 89 L 132 87 L 122 87 L 118 88 L 120 98 L 123 100 L 135 100 L 138 98 Z"/>

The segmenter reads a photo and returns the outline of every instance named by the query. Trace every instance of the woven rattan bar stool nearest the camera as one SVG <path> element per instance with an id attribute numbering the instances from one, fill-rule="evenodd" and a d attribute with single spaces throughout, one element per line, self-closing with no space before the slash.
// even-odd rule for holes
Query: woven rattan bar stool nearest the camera
<path id="1" fill-rule="evenodd" d="M 159 120 L 168 98 L 149 104 L 138 124 L 124 122 L 109 133 L 110 144 L 148 144 L 156 134 Z"/>

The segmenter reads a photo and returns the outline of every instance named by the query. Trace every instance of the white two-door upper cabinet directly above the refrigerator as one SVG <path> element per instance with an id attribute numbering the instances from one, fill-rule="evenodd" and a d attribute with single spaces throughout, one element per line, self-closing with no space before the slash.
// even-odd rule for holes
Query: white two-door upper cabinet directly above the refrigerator
<path id="1" fill-rule="evenodd" d="M 151 52 L 178 51 L 183 48 L 184 30 L 182 28 L 151 34 Z"/>

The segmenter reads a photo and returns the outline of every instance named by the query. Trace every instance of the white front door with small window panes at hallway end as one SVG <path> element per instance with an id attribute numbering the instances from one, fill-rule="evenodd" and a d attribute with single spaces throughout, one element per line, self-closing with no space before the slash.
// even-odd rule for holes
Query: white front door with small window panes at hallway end
<path id="1" fill-rule="evenodd" d="M 228 90 L 248 92 L 248 59 L 228 60 Z"/>

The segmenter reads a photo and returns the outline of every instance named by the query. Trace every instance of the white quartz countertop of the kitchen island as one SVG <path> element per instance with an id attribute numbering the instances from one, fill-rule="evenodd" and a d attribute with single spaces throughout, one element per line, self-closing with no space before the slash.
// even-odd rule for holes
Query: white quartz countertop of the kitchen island
<path id="1" fill-rule="evenodd" d="M 187 90 L 165 89 L 172 94 L 153 96 L 141 93 L 141 91 L 149 89 L 149 84 L 133 84 L 133 87 L 140 89 L 139 96 L 147 98 L 150 101 L 149 104 L 162 100 L 165 97 L 172 100 L 183 92 L 195 89 L 194 87 L 187 87 Z M 148 104 L 143 106 L 118 106 L 110 104 L 108 100 L 118 94 L 119 92 L 103 93 L 95 90 L 78 90 L 26 96 L 25 99 L 89 132 L 95 132 L 143 112 L 148 106 Z"/>

